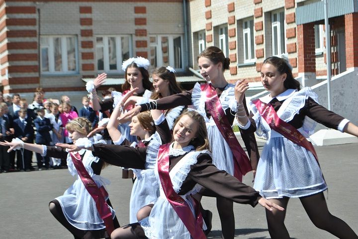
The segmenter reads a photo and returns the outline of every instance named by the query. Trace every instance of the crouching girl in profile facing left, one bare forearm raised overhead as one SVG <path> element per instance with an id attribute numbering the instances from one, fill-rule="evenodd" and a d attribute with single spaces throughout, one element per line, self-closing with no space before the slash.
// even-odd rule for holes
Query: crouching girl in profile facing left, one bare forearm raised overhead
<path id="1" fill-rule="evenodd" d="M 129 91 L 123 100 L 126 100 L 137 88 Z M 146 148 L 146 162 L 144 169 L 133 169 L 136 175 L 136 180 L 133 184 L 132 193 L 129 202 L 129 222 L 136 223 L 137 213 L 144 206 L 157 201 L 159 197 L 159 185 L 154 175 L 154 167 L 157 158 L 159 147 L 162 144 L 170 142 L 172 136 L 168 130 L 168 125 L 164 120 L 161 111 L 153 110 L 152 116 L 149 111 L 143 112 L 134 116 L 131 123 L 128 125 L 130 134 L 138 137 L 138 144 L 136 142 L 129 142 L 118 130 L 120 121 L 118 117 L 122 112 L 122 102 L 118 102 L 114 108 L 109 122 L 107 124 L 108 133 L 115 145 L 145 147 Z M 155 119 L 154 125 L 153 119 Z M 156 128 L 158 131 L 156 132 Z M 163 130 L 161 130 L 163 129 Z M 128 158 L 127 160 L 132 160 Z M 117 165 L 117 159 L 113 158 L 107 161 L 111 164 Z M 150 208 L 151 209 L 151 208 Z M 149 209 L 149 210 L 150 210 Z M 143 216 L 140 216 L 143 217 Z"/>

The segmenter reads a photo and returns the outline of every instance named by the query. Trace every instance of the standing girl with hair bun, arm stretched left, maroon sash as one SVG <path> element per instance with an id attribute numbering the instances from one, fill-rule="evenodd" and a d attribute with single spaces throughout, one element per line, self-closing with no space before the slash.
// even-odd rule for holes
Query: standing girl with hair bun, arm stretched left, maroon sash
<path id="1" fill-rule="evenodd" d="M 237 103 L 234 95 L 235 85 L 229 84 L 224 77 L 224 71 L 229 69 L 230 59 L 225 58 L 224 53 L 214 46 L 206 48 L 197 59 L 200 74 L 206 81 L 210 81 L 210 84 L 196 83 L 194 88 L 189 91 L 138 105 L 124 114 L 123 117 L 130 118 L 140 111 L 148 109 L 164 110 L 179 105 L 193 105 L 205 119 L 208 139 L 212 147 L 213 164 L 242 180 L 242 176 L 248 171 L 256 169 L 259 152 L 254 134 L 242 135 L 250 161 L 231 129 L 237 111 Z M 216 101 L 212 103 L 214 97 Z M 220 111 L 219 108 L 222 110 Z M 235 152 L 235 155 L 232 152 Z M 209 192 L 204 191 L 202 193 L 209 195 Z M 223 237 L 233 239 L 235 236 L 235 217 L 232 201 L 218 197 L 217 208 Z"/>

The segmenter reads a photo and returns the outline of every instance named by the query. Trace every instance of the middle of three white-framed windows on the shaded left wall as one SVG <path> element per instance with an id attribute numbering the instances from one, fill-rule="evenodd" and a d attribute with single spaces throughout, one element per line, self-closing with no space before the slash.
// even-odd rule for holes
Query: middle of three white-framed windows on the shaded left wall
<path id="1" fill-rule="evenodd" d="M 130 36 L 96 36 L 98 71 L 122 71 L 122 62 L 132 56 Z"/>

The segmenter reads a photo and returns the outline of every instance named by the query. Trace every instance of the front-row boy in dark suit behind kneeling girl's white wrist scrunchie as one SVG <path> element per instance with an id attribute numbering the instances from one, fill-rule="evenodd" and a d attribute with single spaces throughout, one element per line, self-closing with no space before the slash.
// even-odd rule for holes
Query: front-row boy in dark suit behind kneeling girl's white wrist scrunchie
<path id="1" fill-rule="evenodd" d="M 34 129 L 31 117 L 27 117 L 27 109 L 21 108 L 18 112 L 18 118 L 13 121 L 15 137 L 24 143 L 33 144 Z M 30 171 L 32 152 L 23 150 L 23 154 L 17 153 L 17 169 L 20 171 Z"/>

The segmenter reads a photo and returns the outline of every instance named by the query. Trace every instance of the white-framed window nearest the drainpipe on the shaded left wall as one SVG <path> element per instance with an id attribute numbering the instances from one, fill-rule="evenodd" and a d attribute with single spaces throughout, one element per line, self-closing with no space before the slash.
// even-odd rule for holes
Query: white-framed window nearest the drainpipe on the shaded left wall
<path id="1" fill-rule="evenodd" d="M 149 61 L 152 67 L 183 68 L 183 39 L 181 35 L 152 35 L 149 37 L 149 41 Z"/>

